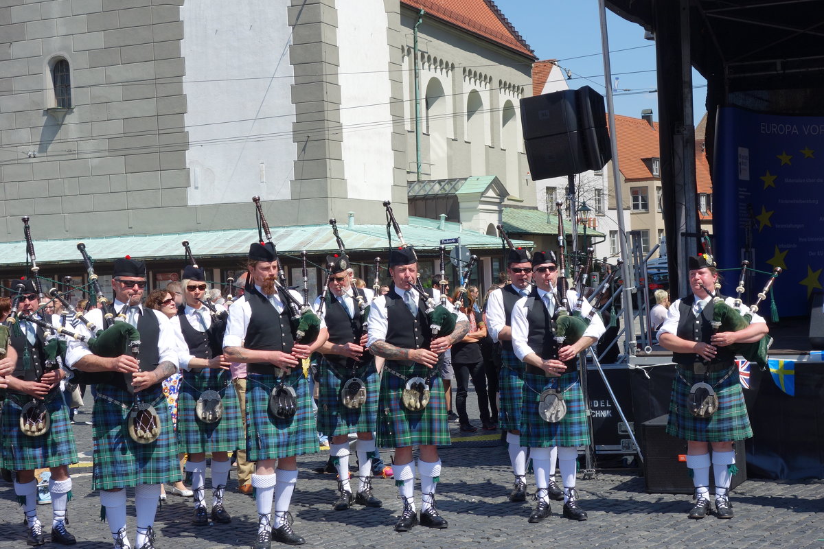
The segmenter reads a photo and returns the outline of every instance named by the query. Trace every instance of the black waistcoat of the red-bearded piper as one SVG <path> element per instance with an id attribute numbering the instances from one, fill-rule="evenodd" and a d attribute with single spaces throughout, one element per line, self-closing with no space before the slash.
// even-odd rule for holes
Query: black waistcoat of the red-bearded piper
<path id="1" fill-rule="evenodd" d="M 289 305 L 286 295 L 278 288 L 278 296 L 283 303 L 283 312 L 269 302 L 269 299 L 255 288 L 244 294 L 252 314 L 249 326 L 246 328 L 246 337 L 243 347 L 255 351 L 283 351 L 292 352 L 295 343 L 295 334 L 292 328 L 292 319 L 289 316 Z M 250 362 L 246 370 L 250 374 L 272 374 L 275 366 L 269 362 Z"/>

